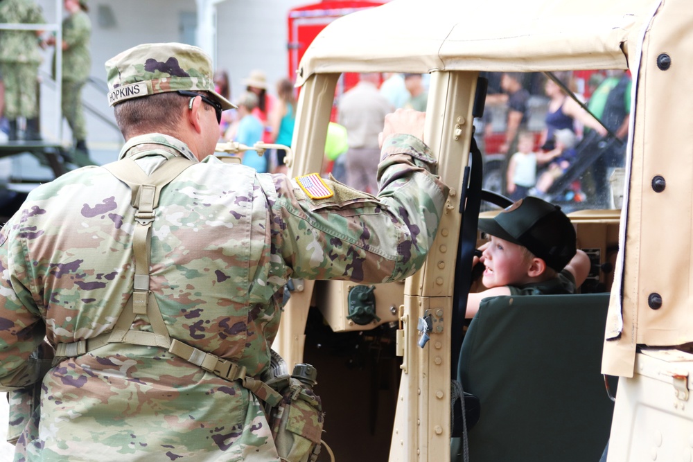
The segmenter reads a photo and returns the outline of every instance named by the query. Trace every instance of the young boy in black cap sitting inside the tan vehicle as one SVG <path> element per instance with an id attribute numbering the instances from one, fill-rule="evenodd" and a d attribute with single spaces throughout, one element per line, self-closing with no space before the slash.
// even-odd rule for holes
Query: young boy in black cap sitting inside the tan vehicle
<path id="1" fill-rule="evenodd" d="M 474 264 L 486 269 L 486 290 L 469 294 L 466 317 L 483 299 L 498 295 L 572 294 L 590 272 L 590 259 L 575 248 L 575 230 L 559 206 L 536 197 L 518 200 L 494 218 L 479 220 L 491 240 Z"/>

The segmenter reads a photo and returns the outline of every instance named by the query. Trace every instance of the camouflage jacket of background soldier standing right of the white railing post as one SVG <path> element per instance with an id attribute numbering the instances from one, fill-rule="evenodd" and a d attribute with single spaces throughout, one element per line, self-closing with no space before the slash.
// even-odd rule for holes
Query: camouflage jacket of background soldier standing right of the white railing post
<path id="1" fill-rule="evenodd" d="M 62 80 L 87 80 L 91 73 L 91 54 L 89 53 L 91 20 L 89 15 L 79 10 L 62 21 L 62 41 L 67 49 L 62 51 Z M 55 76 L 55 55 L 53 55 L 53 76 Z"/>

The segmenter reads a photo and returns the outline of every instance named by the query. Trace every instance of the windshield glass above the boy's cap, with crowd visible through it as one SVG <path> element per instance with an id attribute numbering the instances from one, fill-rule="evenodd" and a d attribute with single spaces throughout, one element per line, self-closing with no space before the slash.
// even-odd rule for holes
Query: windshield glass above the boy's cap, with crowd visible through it
<path id="1" fill-rule="evenodd" d="M 514 200 L 542 197 L 566 212 L 620 208 L 627 71 L 482 76 L 489 89 L 475 139 L 484 154 L 485 189 Z"/>

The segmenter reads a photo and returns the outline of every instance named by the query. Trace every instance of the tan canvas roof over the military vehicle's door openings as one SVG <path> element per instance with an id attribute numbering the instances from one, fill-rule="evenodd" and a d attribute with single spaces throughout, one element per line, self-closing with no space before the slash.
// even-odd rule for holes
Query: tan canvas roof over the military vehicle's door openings
<path id="1" fill-rule="evenodd" d="M 625 69 L 660 0 L 392 0 L 327 26 L 312 73 Z"/>

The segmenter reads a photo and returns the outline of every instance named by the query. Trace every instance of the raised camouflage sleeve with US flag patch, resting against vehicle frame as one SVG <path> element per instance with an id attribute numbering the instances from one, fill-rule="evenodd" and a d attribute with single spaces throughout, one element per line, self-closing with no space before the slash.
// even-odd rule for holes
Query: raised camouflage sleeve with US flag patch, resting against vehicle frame
<path id="1" fill-rule="evenodd" d="M 292 276 L 385 283 L 421 268 L 448 187 L 414 136 L 387 139 L 381 159 L 377 197 L 330 179 L 333 196 L 310 199 L 295 181 L 277 176 L 272 245 Z"/>

